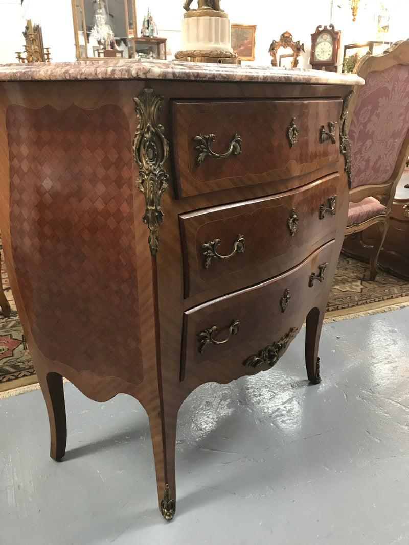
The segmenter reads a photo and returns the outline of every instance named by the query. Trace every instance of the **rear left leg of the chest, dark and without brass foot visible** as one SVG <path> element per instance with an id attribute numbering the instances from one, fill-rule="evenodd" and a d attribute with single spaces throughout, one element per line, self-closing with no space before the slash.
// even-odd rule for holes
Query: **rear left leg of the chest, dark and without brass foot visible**
<path id="1" fill-rule="evenodd" d="M 43 392 L 47 413 L 49 415 L 51 446 L 50 456 L 60 462 L 65 455 L 67 445 L 67 419 L 65 415 L 65 400 L 63 377 L 59 373 L 47 373 L 46 376 L 37 373 Z"/>

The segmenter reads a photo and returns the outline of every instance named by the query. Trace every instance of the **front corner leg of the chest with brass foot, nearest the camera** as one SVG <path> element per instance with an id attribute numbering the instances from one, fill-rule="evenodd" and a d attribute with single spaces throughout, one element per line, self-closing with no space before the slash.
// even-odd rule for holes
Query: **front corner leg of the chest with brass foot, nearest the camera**
<path id="1" fill-rule="evenodd" d="M 166 420 L 166 421 L 165 421 Z M 161 411 L 149 414 L 158 487 L 159 510 L 166 520 L 176 511 L 175 450 L 177 410 L 163 419 Z"/>

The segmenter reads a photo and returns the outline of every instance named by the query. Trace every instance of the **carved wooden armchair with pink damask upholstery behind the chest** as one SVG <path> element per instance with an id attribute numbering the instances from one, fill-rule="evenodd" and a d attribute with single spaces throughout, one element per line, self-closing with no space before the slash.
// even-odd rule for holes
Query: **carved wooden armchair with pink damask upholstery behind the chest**
<path id="1" fill-rule="evenodd" d="M 369 280 L 375 280 L 390 206 L 409 154 L 409 40 L 381 55 L 365 55 L 354 72 L 365 85 L 350 103 L 350 205 L 342 250 L 369 261 Z M 362 235 L 356 237 L 360 245 L 357 240 L 351 245 L 348 235 L 368 227 L 371 245 Z"/>

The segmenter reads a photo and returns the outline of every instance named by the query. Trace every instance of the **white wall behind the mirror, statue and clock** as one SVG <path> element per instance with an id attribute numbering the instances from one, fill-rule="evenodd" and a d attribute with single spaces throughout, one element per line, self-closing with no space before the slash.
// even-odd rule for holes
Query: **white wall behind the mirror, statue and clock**
<path id="1" fill-rule="evenodd" d="M 340 64 L 345 44 L 377 39 L 380 2 L 381 0 L 360 0 L 356 22 L 352 22 L 348 0 L 291 0 L 252 4 L 244 0 L 221 0 L 221 7 L 232 23 L 257 25 L 256 59 L 252 64 L 269 66 L 270 44 L 273 39 L 279 40 L 280 34 L 288 30 L 294 41 L 300 40 L 304 43 L 305 53 L 300 56 L 299 68 L 310 68 L 311 33 L 317 25 L 328 26 L 332 22 L 336 30 L 341 29 Z M 408 0 L 383 0 L 383 3 L 388 6 L 390 17 L 388 39 L 396 41 L 408 38 Z M 192 7 L 195 5 L 194 1 Z M 184 14 L 183 0 L 136 0 L 138 32 L 148 8 L 158 25 L 159 35 L 169 40 L 172 52 L 181 49 L 179 31 Z M 25 43 L 22 32 L 26 19 L 41 26 L 44 46 L 50 46 L 52 60 L 75 60 L 70 0 L 23 0 L 22 6 L 20 0 L 0 0 L 0 63 L 16 62 L 15 51 L 21 51 Z"/>

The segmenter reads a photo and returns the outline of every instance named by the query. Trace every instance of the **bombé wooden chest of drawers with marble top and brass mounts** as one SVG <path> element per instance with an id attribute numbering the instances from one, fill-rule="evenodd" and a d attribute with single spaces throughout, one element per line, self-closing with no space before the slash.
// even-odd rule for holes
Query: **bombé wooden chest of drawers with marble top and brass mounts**
<path id="1" fill-rule="evenodd" d="M 189 393 L 272 367 L 305 318 L 320 380 L 362 83 L 187 66 L 0 70 L 0 229 L 51 456 L 65 453 L 63 376 L 97 401 L 129 393 L 149 416 L 166 519 Z"/>

